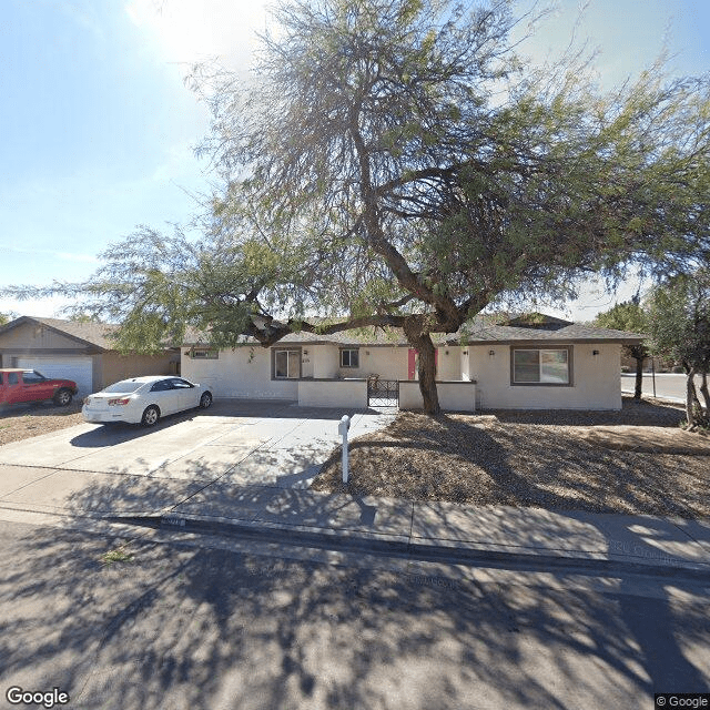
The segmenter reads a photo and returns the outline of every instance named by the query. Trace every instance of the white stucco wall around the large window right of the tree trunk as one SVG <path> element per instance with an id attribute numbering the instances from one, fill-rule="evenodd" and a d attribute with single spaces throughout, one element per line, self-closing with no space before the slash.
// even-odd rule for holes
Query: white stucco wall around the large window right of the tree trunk
<path id="1" fill-rule="evenodd" d="M 547 347 L 555 345 L 550 343 Z M 594 351 L 599 354 L 592 355 Z M 479 409 L 621 408 L 620 345 L 574 344 L 571 387 L 511 385 L 509 345 L 469 346 L 468 352 L 471 379 L 477 382 Z"/>

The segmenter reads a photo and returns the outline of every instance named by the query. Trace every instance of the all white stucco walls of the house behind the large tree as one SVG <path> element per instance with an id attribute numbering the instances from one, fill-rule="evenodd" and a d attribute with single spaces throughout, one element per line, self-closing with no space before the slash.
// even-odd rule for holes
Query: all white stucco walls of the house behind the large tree
<path id="1" fill-rule="evenodd" d="M 535 345 L 538 347 L 539 345 Z M 555 347 L 552 343 L 548 345 Z M 302 345 L 302 372 L 313 377 L 303 389 L 301 399 L 322 402 L 321 406 L 339 405 L 345 389 L 338 384 L 328 385 L 318 379 L 357 378 L 378 374 L 382 379 L 407 381 L 407 347 L 361 346 L 359 367 L 341 368 L 337 345 Z M 534 346 L 531 346 L 534 347 Z M 445 351 L 449 354 L 446 355 Z M 447 409 L 619 409 L 621 388 L 619 381 L 620 349 L 618 344 L 574 344 L 572 386 L 555 387 L 510 384 L 509 345 L 468 345 L 439 348 L 437 381 L 476 382 L 475 386 L 456 386 L 454 382 L 439 386 L 442 405 Z M 307 353 L 305 352 L 307 351 Z M 493 356 L 489 352 L 493 351 Z M 594 355 L 598 351 L 598 355 Z M 242 397 L 300 399 L 300 381 L 272 379 L 272 355 L 260 346 L 243 346 L 233 351 L 221 351 L 217 359 L 192 359 L 182 348 L 182 375 L 193 382 L 206 384 L 215 397 Z M 466 354 L 464 354 L 466 353 Z M 304 381 L 301 381 L 304 382 Z M 412 383 L 412 393 L 400 386 L 400 406 L 422 406 L 418 385 Z M 315 388 L 322 387 L 322 390 Z M 362 398 L 364 385 L 353 383 L 355 390 L 352 404 Z M 450 389 L 450 392 L 449 392 Z M 475 393 L 475 395 L 474 395 Z M 349 400 L 347 392 L 345 399 Z M 473 404 L 468 402 L 475 396 Z M 363 405 L 364 406 L 364 405 Z"/>

